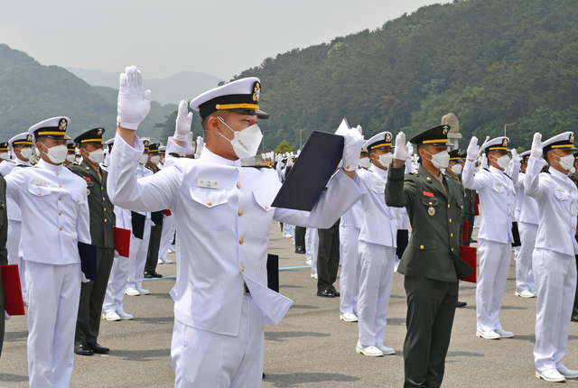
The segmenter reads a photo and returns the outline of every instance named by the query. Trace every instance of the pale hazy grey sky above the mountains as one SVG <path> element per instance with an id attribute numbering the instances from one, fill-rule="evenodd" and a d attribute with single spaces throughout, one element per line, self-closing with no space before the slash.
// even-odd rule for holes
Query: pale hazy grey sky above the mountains
<path id="1" fill-rule="evenodd" d="M 203 71 L 230 79 L 277 53 L 376 29 L 449 0 L 30 0 L 0 4 L 0 43 L 43 65 L 148 79 Z"/>

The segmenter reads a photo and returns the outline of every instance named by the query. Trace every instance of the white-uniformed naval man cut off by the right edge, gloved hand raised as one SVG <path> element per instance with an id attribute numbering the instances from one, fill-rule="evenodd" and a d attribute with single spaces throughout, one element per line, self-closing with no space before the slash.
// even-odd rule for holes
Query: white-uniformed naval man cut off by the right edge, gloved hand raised
<path id="1" fill-rule="evenodd" d="M 526 194 L 538 205 L 538 230 L 532 257 L 536 279 L 536 377 L 550 382 L 578 378 L 562 364 L 568 343 L 576 289 L 578 189 L 568 170 L 573 167 L 574 134 L 565 132 L 542 142 L 535 134 L 527 163 Z M 549 173 L 540 173 L 545 161 Z"/>

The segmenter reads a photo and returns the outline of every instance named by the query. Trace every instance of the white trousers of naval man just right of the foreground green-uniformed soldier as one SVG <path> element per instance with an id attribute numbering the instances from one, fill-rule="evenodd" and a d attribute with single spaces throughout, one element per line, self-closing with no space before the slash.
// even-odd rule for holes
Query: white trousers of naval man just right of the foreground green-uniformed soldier
<path id="1" fill-rule="evenodd" d="M 512 245 L 480 238 L 480 274 L 476 285 L 478 331 L 501 329 L 499 310 L 508 280 Z"/>

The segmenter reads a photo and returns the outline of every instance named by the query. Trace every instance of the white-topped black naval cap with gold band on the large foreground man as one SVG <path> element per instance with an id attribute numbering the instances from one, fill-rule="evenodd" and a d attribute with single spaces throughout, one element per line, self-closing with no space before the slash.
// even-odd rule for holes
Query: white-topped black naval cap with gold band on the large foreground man
<path id="1" fill-rule="evenodd" d="M 231 110 L 265 119 L 269 115 L 259 109 L 260 97 L 261 80 L 248 77 L 210 89 L 195 97 L 190 106 L 191 109 L 199 111 L 201 120 L 218 110 Z"/>

